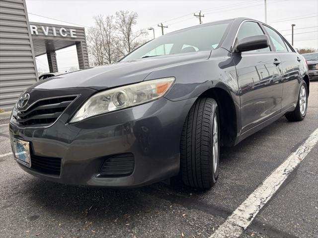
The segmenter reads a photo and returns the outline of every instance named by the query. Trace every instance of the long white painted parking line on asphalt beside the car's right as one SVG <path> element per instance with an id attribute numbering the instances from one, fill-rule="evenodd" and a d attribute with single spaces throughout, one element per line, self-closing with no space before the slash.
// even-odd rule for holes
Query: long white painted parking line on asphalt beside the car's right
<path id="1" fill-rule="evenodd" d="M 274 195 L 290 173 L 299 165 L 318 142 L 318 128 L 271 173 L 248 198 L 232 213 L 210 238 L 238 238 L 253 221 L 259 210 Z"/>

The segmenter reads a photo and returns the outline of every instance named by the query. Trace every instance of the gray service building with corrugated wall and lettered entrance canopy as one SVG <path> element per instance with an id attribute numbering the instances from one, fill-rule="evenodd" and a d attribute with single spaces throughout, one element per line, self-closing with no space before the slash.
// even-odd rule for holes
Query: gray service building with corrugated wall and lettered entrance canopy
<path id="1" fill-rule="evenodd" d="M 57 72 L 56 51 L 74 45 L 79 68 L 89 67 L 84 28 L 29 22 L 25 0 L 0 1 L 0 109 L 12 109 L 38 81 L 35 57 L 46 54 L 50 72 Z"/>

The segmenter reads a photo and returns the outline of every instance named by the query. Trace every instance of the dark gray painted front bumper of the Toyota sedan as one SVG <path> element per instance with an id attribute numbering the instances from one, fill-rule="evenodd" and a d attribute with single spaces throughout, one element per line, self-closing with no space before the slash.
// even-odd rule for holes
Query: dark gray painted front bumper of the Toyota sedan
<path id="1" fill-rule="evenodd" d="M 10 123 L 10 136 L 30 142 L 37 157 L 61 158 L 59 176 L 20 167 L 51 181 L 86 186 L 135 187 L 170 178 L 179 172 L 183 123 L 194 99 L 165 98 L 133 108 L 68 124 L 58 119 L 47 128 L 20 128 Z M 100 177 L 107 156 L 132 153 L 131 175 Z"/>

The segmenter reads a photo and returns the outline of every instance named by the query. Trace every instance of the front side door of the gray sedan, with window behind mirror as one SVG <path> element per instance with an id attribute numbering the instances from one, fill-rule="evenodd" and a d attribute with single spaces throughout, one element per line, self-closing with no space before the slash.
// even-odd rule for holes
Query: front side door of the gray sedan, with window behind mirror
<path id="1" fill-rule="evenodd" d="M 247 20 L 240 24 L 236 40 L 264 34 L 258 22 Z M 232 53 L 239 84 L 241 132 L 280 113 L 281 63 L 272 48 Z"/>

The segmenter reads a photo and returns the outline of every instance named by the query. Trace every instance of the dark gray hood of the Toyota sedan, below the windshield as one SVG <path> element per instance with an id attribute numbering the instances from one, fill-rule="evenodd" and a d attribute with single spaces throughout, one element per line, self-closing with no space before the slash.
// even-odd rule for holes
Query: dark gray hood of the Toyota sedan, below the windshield
<path id="1" fill-rule="evenodd" d="M 89 87 L 96 90 L 137 83 L 157 69 L 189 61 L 206 60 L 210 51 L 158 56 L 135 61 L 122 61 L 48 78 L 32 85 L 35 89 Z M 173 76 L 173 75 L 170 75 Z"/>

